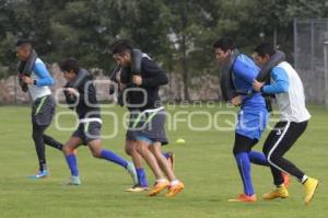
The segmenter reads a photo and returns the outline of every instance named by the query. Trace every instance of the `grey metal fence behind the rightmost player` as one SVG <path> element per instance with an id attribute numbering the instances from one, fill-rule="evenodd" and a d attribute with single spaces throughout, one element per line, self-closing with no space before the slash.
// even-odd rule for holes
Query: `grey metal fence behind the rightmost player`
<path id="1" fill-rule="evenodd" d="M 304 83 L 306 100 L 328 107 L 326 42 L 328 19 L 294 20 L 294 67 Z"/>

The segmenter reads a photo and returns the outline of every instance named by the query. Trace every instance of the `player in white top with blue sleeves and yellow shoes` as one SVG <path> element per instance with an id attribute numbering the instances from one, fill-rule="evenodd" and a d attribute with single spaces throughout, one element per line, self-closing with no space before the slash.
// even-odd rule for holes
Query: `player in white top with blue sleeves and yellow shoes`
<path id="1" fill-rule="evenodd" d="M 255 48 L 255 60 L 259 66 L 265 65 L 276 50 L 269 43 L 262 43 Z M 270 72 L 270 84 L 254 81 L 256 91 L 274 94 L 281 114 L 280 122 L 270 131 L 263 152 L 271 168 L 276 190 L 262 196 L 263 199 L 289 197 L 289 192 L 283 185 L 280 171 L 286 172 L 298 180 L 305 188 L 304 203 L 307 205 L 313 198 L 318 186 L 316 179 L 308 177 L 291 161 L 283 156 L 292 148 L 298 137 L 305 131 L 311 115 L 305 107 L 303 83 L 295 69 L 286 61 L 276 66 Z"/>

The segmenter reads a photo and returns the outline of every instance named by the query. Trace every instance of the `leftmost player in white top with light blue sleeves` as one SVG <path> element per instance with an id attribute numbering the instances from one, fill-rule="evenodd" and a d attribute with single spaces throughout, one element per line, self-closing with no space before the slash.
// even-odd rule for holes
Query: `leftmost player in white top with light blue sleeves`
<path id="1" fill-rule="evenodd" d="M 32 41 L 17 41 L 16 56 L 23 64 L 20 66 L 20 79 L 22 81 L 22 89 L 23 91 L 28 91 L 33 101 L 32 137 L 38 158 L 38 171 L 35 175 L 32 175 L 30 177 L 42 179 L 46 177 L 49 174 L 49 171 L 47 169 L 45 144 L 48 144 L 59 150 L 61 150 L 62 145 L 58 144 L 50 136 L 44 134 L 48 126 L 51 124 L 52 116 L 55 114 L 55 101 L 49 89 L 49 85 L 54 84 L 54 80 L 40 58 L 31 60 L 32 53 L 35 53 Z M 33 70 L 28 72 L 28 74 L 22 73 L 26 65 L 34 66 Z"/>

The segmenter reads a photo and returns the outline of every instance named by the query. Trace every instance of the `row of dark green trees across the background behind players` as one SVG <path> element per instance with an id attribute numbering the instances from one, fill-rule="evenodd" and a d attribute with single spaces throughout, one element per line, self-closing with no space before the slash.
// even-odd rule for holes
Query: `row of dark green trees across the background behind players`
<path id="1" fill-rule="evenodd" d="M 15 73 L 14 44 L 32 38 L 47 62 L 75 57 L 86 68 L 114 68 L 109 45 L 129 38 L 163 68 L 190 80 L 218 74 L 212 44 L 232 36 L 250 53 L 261 41 L 291 54 L 293 19 L 328 15 L 317 0 L 1 0 L 0 78 Z"/>

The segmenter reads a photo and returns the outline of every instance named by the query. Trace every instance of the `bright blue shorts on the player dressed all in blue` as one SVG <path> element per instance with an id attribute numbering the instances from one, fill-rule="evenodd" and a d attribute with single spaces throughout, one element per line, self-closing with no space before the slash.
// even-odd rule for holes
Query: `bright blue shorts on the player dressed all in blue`
<path id="1" fill-rule="evenodd" d="M 238 113 L 238 123 L 236 125 L 236 134 L 250 139 L 259 140 L 267 127 L 269 114 L 263 110 L 241 110 Z"/>

